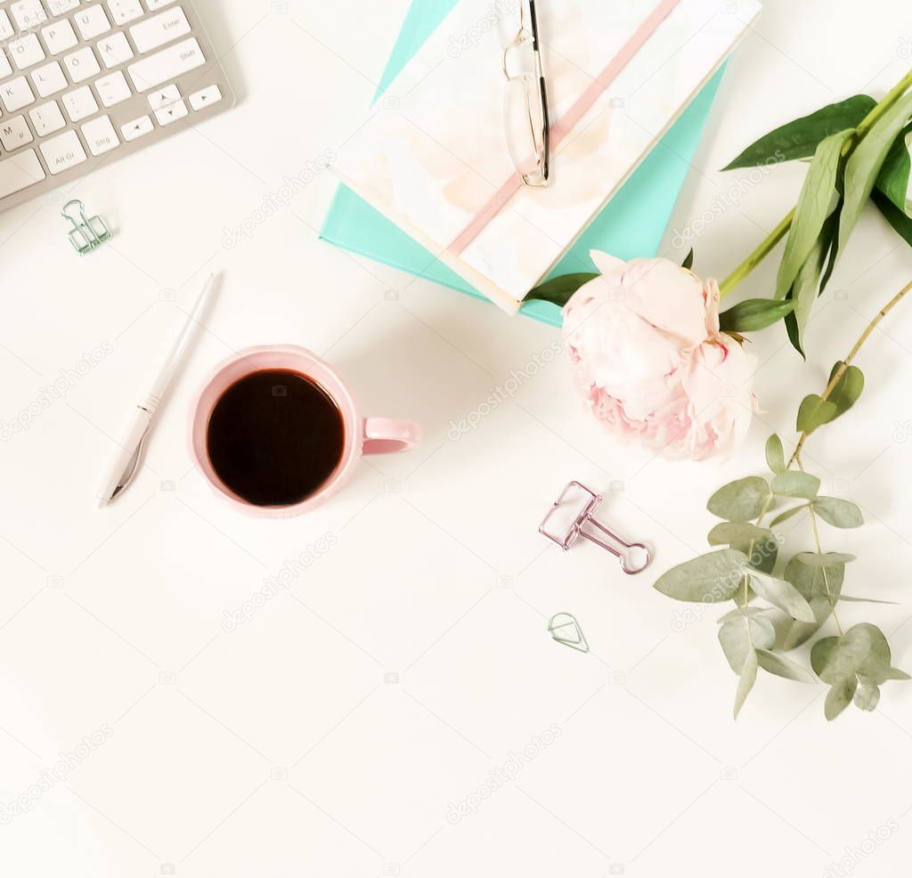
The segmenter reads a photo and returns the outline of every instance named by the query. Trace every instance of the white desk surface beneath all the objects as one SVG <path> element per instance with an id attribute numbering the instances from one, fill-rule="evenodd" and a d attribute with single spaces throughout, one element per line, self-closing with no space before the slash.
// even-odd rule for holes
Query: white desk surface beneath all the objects
<path id="1" fill-rule="evenodd" d="M 453 441 L 451 419 L 551 346 L 553 329 L 317 241 L 328 174 L 223 244 L 358 125 L 406 0 L 199 5 L 240 104 L 73 187 L 115 240 L 80 260 L 59 196 L 0 216 L 0 418 L 112 348 L 0 444 L 0 805 L 84 737 L 104 738 L 0 825 L 0 872 L 807 876 L 849 856 L 845 873 L 905 873 L 912 686 L 888 684 L 875 714 L 828 724 L 824 687 L 762 674 L 735 724 L 722 610 L 685 618 L 651 583 L 704 551 L 710 491 L 761 471 L 772 429 L 793 435 L 800 398 L 912 274 L 907 246 L 865 215 L 810 326 L 808 365 L 781 328 L 756 336 L 763 414 L 731 460 L 618 447 L 560 361 Z M 696 242 L 698 272 L 740 262 L 804 172 L 740 186 L 716 169 L 786 119 L 883 95 L 912 64 L 910 41 L 903 0 L 768 0 L 672 221 L 700 220 L 733 187 Z M 774 262 L 739 295 L 770 294 Z M 148 462 L 122 501 L 94 511 L 111 437 L 212 269 L 222 292 Z M 326 356 L 369 413 L 419 420 L 423 447 L 365 461 L 305 519 L 239 517 L 192 468 L 188 408 L 216 362 L 270 342 Z M 864 528 L 824 536 L 859 556 L 846 591 L 898 602 L 846 605 L 844 621 L 881 625 L 912 670 L 912 303 L 859 365 L 864 398 L 809 441 L 807 462 L 865 511 Z M 606 491 L 606 522 L 655 546 L 653 571 L 630 579 L 594 546 L 565 555 L 543 541 L 538 520 L 570 479 Z M 805 527 L 793 551 L 810 548 Z M 290 589 L 223 630 L 321 538 L 335 544 Z M 561 610 L 579 618 L 588 656 L 548 637 Z M 513 780 L 448 819 L 526 748 Z"/>

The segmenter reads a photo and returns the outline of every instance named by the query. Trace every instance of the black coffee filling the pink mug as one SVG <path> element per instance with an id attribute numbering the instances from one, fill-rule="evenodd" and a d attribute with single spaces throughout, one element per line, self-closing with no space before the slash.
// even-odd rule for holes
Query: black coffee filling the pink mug
<path id="1" fill-rule="evenodd" d="M 345 424 L 336 401 L 290 369 L 262 369 L 228 387 L 206 431 L 212 468 L 255 506 L 291 506 L 336 471 Z"/>

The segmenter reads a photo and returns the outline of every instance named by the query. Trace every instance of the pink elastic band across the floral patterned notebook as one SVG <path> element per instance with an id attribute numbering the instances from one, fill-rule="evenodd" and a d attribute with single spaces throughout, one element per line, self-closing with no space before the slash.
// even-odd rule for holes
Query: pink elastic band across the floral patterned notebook
<path id="1" fill-rule="evenodd" d="M 608 66 L 592 81 L 589 88 L 577 98 L 575 104 L 569 108 L 565 115 L 551 127 L 551 149 L 556 150 L 561 141 L 572 131 L 576 123 L 582 119 L 593 107 L 598 98 L 605 94 L 606 89 L 615 81 L 617 75 L 627 67 L 630 60 L 646 44 L 658 26 L 668 18 L 668 15 L 679 5 L 680 0 L 662 0 L 648 16 L 642 25 L 637 27 L 636 33 L 627 40 L 621 50 L 611 59 Z M 470 222 L 447 248 L 449 253 L 458 256 L 482 232 L 492 219 L 503 210 L 504 205 L 523 186 L 523 177 L 516 171 L 500 189 L 492 195 L 491 199 L 475 214 Z"/>

